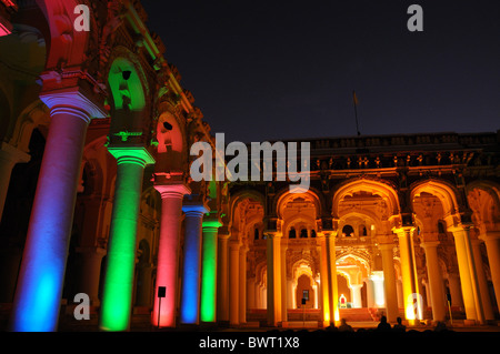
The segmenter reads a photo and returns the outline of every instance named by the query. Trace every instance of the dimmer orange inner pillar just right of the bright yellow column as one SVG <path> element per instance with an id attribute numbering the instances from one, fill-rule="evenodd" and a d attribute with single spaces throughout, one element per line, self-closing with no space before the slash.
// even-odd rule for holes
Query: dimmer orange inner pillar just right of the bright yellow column
<path id="1" fill-rule="evenodd" d="M 426 241 L 421 243 L 426 250 L 427 273 L 429 276 L 430 299 L 432 303 L 432 320 L 444 321 L 447 315 L 446 294 L 441 269 L 438 261 L 438 241 Z"/>

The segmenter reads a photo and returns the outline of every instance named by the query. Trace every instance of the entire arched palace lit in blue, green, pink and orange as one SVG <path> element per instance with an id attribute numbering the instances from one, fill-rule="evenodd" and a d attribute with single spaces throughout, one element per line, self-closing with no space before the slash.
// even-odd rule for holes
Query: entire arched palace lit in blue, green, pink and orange
<path id="1" fill-rule="evenodd" d="M 193 182 L 214 132 L 146 21 L 0 0 L 2 328 L 498 321 L 499 132 L 309 140 L 302 193 Z"/>

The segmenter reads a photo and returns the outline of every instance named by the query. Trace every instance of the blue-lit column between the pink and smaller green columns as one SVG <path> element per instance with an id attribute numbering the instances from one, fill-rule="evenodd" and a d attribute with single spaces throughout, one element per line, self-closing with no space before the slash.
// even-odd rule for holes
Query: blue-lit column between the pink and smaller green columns
<path id="1" fill-rule="evenodd" d="M 181 290 L 181 322 L 198 324 L 200 314 L 201 232 L 203 214 L 209 210 L 202 203 L 184 203 L 184 260 Z"/>

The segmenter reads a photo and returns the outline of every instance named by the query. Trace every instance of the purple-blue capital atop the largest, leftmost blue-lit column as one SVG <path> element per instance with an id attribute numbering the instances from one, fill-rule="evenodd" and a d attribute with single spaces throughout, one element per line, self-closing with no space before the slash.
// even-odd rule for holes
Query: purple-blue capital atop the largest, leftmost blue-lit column
<path id="1" fill-rule="evenodd" d="M 103 108 L 83 94 L 79 87 L 42 92 L 40 100 L 50 108 L 50 115 L 70 113 L 80 117 L 87 123 L 90 123 L 92 118 L 106 118 L 108 115 Z"/>

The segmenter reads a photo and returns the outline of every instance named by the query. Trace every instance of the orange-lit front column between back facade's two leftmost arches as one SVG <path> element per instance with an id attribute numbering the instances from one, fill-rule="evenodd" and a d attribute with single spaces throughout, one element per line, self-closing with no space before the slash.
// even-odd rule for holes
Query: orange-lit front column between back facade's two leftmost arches
<path id="1" fill-rule="evenodd" d="M 281 322 L 281 234 L 268 233 L 268 325 L 278 326 Z"/>

